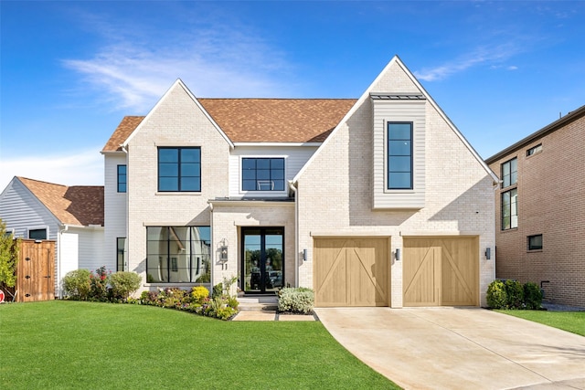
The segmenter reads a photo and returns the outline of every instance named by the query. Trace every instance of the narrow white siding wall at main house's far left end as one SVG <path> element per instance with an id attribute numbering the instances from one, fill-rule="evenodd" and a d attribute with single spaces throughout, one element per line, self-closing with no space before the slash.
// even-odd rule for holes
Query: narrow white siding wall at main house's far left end
<path id="1" fill-rule="evenodd" d="M 116 270 L 116 238 L 127 237 L 127 193 L 118 192 L 118 165 L 126 164 L 126 153 L 104 155 L 104 226 L 103 261 L 112 271 Z"/>

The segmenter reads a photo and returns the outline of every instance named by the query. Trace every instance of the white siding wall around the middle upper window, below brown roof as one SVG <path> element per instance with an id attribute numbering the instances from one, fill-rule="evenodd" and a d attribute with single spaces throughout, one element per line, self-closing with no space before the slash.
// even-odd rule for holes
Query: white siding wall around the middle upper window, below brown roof
<path id="1" fill-rule="evenodd" d="M 285 179 L 288 182 L 299 173 L 316 146 L 237 146 L 229 154 L 229 197 L 282 197 L 288 194 L 288 184 L 283 192 L 241 191 L 242 157 L 284 157 Z"/>

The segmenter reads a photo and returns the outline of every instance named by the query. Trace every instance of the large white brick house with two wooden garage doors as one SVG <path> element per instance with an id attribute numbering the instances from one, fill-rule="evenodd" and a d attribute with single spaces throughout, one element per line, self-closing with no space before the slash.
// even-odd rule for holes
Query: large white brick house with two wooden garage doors
<path id="1" fill-rule="evenodd" d="M 485 305 L 495 174 L 392 58 L 358 100 L 197 99 L 102 152 L 105 258 L 143 290 L 315 290 L 317 306 Z"/>

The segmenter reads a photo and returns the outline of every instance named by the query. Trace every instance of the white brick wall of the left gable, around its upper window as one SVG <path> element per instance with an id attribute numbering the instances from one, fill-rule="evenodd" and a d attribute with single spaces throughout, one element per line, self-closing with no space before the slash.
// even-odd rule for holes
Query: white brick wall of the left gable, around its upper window
<path id="1" fill-rule="evenodd" d="M 201 147 L 201 192 L 157 192 L 157 146 Z M 180 85 L 128 143 L 129 269 L 146 280 L 146 227 L 210 226 L 207 200 L 229 195 L 229 144 Z"/>

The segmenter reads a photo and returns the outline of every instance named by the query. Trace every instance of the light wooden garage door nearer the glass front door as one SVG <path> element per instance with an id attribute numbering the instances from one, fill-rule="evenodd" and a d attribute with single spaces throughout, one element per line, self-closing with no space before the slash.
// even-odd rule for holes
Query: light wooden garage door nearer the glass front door
<path id="1" fill-rule="evenodd" d="M 315 306 L 388 306 L 388 238 L 315 238 Z"/>

